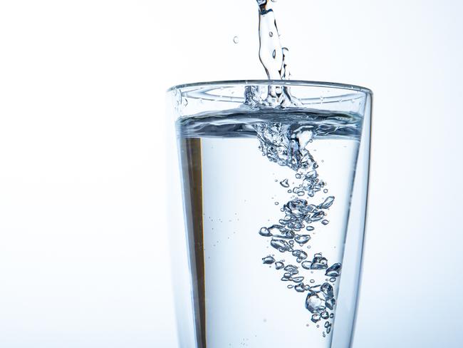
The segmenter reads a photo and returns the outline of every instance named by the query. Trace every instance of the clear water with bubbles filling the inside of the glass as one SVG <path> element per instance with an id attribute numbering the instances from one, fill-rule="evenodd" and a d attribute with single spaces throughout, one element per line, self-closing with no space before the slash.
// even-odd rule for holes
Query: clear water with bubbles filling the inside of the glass
<path id="1" fill-rule="evenodd" d="M 198 347 L 331 347 L 360 131 L 296 108 L 177 121 Z"/>

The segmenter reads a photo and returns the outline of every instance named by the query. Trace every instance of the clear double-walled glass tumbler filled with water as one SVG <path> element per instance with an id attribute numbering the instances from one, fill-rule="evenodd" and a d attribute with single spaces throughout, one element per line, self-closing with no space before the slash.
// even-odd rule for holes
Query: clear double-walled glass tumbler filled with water
<path id="1" fill-rule="evenodd" d="M 224 81 L 167 96 L 180 347 L 349 347 L 371 91 Z"/>

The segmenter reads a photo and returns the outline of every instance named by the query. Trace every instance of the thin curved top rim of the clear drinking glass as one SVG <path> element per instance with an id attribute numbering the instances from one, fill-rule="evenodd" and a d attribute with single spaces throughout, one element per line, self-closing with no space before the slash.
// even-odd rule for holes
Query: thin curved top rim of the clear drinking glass
<path id="1" fill-rule="evenodd" d="M 277 86 L 307 86 L 307 87 L 328 87 L 344 89 L 348 91 L 358 91 L 373 96 L 370 88 L 351 85 L 348 83 L 326 82 L 326 81 L 305 81 L 305 80 L 224 80 L 224 81 L 205 81 L 182 83 L 167 89 L 167 93 L 178 91 L 183 88 L 207 87 L 207 86 L 239 86 L 239 85 L 277 85 Z"/>

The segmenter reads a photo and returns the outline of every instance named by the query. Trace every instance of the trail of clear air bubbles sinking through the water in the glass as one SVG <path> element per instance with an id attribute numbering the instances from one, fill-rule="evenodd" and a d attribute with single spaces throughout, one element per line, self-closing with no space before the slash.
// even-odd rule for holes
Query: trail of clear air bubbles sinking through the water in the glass
<path id="1" fill-rule="evenodd" d="M 312 236 L 308 232 L 315 230 L 313 225 L 328 225 L 326 216 L 335 197 L 330 195 L 322 202 L 311 203 L 313 197 L 319 191 L 327 193 L 324 189 L 326 183 L 318 178 L 318 164 L 308 152 L 308 143 L 311 143 L 313 129 L 308 126 L 284 125 L 282 123 L 259 123 L 254 126 L 259 138 L 259 149 L 262 155 L 271 162 L 277 163 L 294 170 L 295 182 L 291 188 L 288 178 L 279 181 L 283 188 L 289 188 L 291 197 L 280 209 L 283 216 L 274 225 L 261 227 L 259 235 L 268 237 L 271 247 L 281 253 L 290 253 L 294 262 L 276 261 L 272 256 L 262 259 L 264 264 L 275 264 L 275 270 L 282 271 L 281 281 L 293 282 L 296 285 L 287 285 L 288 289 L 296 293 L 306 293 L 305 307 L 311 313 L 311 321 L 314 323 L 326 320 L 323 337 L 331 332 L 335 310 L 335 290 L 330 282 L 335 282 L 340 276 L 341 264 L 328 265 L 328 259 L 321 252 L 316 252 L 311 257 L 298 247 L 310 247 Z M 276 180 L 278 182 L 278 180 Z M 323 227 L 324 228 L 324 227 Z M 297 247 L 298 246 L 298 247 Z M 304 272 L 313 273 L 321 271 L 330 279 L 316 284 L 313 279 Z M 304 280 L 308 284 L 304 284 Z M 320 325 L 317 325 L 319 327 Z"/>

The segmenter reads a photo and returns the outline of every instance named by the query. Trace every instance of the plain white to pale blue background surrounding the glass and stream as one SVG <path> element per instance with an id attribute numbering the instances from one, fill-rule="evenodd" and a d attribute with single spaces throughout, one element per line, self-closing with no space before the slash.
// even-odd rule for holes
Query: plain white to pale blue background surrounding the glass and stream
<path id="1" fill-rule="evenodd" d="M 375 93 L 354 347 L 461 347 L 462 2 L 275 11 L 293 78 Z M 0 2 L 0 347 L 176 347 L 164 91 L 264 78 L 256 28 L 254 0 Z"/>

